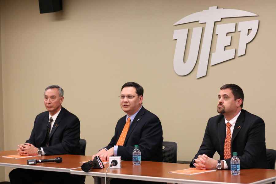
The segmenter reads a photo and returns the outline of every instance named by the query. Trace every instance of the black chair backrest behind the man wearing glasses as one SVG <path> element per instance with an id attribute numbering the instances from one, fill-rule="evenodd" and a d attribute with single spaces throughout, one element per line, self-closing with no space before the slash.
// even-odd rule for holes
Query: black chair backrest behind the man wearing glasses
<path id="1" fill-rule="evenodd" d="M 175 142 L 163 141 L 163 162 L 177 162 L 177 144 Z"/>

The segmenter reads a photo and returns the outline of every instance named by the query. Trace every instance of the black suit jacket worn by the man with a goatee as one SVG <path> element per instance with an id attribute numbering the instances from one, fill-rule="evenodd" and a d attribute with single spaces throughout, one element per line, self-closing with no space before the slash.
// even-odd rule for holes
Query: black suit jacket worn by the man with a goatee
<path id="1" fill-rule="evenodd" d="M 222 114 L 209 119 L 202 144 L 194 159 L 202 154 L 213 158 L 217 151 L 220 160 L 224 160 L 225 126 L 224 115 Z M 242 109 L 234 126 L 231 139 L 231 155 L 233 155 L 233 152 L 238 153 L 241 169 L 270 169 L 266 159 L 265 140 L 263 119 Z M 228 169 L 230 169 L 230 160 L 225 160 Z M 194 167 L 192 162 L 190 167 Z"/>

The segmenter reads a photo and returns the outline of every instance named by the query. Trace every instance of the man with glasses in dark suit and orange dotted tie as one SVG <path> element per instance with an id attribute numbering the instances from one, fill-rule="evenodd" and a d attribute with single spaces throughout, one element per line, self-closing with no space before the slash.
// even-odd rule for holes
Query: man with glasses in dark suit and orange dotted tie
<path id="1" fill-rule="evenodd" d="M 138 144 L 141 151 L 141 160 L 162 162 L 163 130 L 159 118 L 142 106 L 144 89 L 135 82 L 127 82 L 121 88 L 120 105 L 126 113 L 115 127 L 115 135 L 110 143 L 96 155 L 102 161 L 109 160 L 110 156 L 121 156 L 122 160 L 132 160 L 134 145 Z M 125 136 L 123 145 L 118 145 L 119 137 L 130 117 L 130 127 Z M 129 181 L 113 178 L 111 183 L 149 183 Z"/>

